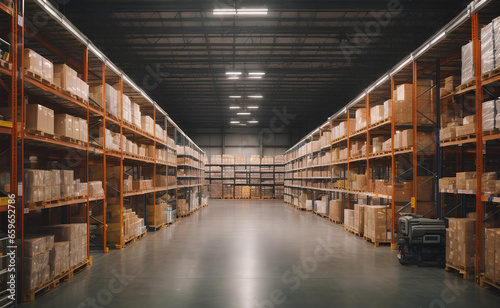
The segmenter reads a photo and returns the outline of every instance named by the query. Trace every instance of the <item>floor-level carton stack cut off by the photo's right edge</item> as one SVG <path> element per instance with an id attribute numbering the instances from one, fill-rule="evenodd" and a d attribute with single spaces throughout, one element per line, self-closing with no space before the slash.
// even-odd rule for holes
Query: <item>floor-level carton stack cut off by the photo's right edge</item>
<path id="1" fill-rule="evenodd" d="M 500 228 L 485 231 L 485 273 L 486 278 L 500 282 Z"/>

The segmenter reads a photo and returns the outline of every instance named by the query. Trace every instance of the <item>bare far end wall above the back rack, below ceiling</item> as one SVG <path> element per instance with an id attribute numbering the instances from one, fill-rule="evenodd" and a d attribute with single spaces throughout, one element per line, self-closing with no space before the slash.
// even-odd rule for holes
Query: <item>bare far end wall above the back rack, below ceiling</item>
<path id="1" fill-rule="evenodd" d="M 189 136 L 209 157 L 221 154 L 275 156 L 292 146 L 290 133 L 263 134 L 262 130 L 253 128 L 196 129 L 190 130 Z"/>

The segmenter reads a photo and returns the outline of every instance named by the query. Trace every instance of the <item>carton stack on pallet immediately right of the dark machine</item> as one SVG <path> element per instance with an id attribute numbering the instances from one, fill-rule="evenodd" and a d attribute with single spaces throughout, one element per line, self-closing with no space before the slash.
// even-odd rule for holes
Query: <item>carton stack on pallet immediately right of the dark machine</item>
<path id="1" fill-rule="evenodd" d="M 446 261 L 462 268 L 474 266 L 476 253 L 476 220 L 449 218 L 446 229 Z"/>

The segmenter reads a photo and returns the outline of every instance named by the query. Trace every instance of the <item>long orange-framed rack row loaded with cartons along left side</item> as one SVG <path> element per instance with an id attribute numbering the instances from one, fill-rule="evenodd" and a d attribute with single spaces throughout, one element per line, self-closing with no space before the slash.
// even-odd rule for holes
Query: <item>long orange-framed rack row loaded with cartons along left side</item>
<path id="1" fill-rule="evenodd" d="M 17 3 L 0 2 L 0 141 L 8 145 L 0 212 L 6 233 L 16 211 L 18 294 L 32 301 L 91 265 L 91 249 L 124 248 L 175 220 L 175 141 L 189 138 L 50 4 Z M 61 258 L 38 262 L 56 248 Z"/>

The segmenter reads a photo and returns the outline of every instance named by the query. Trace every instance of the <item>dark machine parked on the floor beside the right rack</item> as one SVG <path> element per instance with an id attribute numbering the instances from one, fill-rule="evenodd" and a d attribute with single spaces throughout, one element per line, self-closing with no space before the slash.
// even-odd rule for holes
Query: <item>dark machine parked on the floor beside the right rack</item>
<path id="1" fill-rule="evenodd" d="M 401 216 L 398 221 L 399 263 L 419 264 L 436 261 L 445 265 L 446 222 L 413 214 Z"/>

